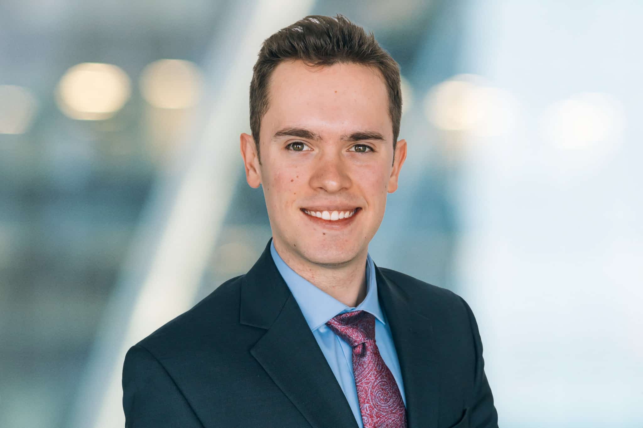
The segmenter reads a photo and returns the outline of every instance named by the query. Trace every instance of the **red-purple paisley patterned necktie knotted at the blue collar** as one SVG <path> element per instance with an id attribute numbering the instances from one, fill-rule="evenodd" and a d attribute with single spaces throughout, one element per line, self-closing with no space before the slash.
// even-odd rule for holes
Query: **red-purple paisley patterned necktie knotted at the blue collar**
<path id="1" fill-rule="evenodd" d="M 327 323 L 353 348 L 353 373 L 364 428 L 406 428 L 402 395 L 375 344 L 375 317 L 345 312 Z"/>

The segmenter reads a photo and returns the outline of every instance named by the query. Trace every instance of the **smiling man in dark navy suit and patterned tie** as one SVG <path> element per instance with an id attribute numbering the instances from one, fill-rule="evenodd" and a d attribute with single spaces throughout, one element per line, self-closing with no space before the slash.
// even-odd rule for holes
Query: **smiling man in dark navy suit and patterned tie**
<path id="1" fill-rule="evenodd" d="M 341 15 L 264 42 L 240 150 L 273 238 L 129 350 L 127 427 L 497 427 L 471 309 L 368 255 L 401 102 L 395 61 Z"/>

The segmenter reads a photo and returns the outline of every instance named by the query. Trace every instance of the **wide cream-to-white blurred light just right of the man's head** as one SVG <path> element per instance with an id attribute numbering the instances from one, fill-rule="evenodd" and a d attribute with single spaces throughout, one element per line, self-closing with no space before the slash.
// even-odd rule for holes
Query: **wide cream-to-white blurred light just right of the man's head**
<path id="1" fill-rule="evenodd" d="M 482 77 L 457 75 L 430 89 L 424 112 L 435 127 L 474 136 L 500 136 L 514 124 L 516 102 L 507 91 L 482 84 Z"/>

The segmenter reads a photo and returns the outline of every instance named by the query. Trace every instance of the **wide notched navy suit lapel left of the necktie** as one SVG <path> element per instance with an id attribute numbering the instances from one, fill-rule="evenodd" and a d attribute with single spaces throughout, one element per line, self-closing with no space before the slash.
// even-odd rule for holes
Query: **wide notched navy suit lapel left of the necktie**
<path id="1" fill-rule="evenodd" d="M 266 329 L 250 353 L 314 428 L 357 427 L 328 362 L 270 254 L 246 274 L 240 323 Z"/>

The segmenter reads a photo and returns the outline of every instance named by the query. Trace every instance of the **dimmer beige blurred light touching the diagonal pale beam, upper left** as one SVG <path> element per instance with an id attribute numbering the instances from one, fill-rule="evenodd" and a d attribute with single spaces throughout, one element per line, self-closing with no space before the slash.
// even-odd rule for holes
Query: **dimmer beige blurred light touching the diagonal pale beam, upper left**
<path id="1" fill-rule="evenodd" d="M 201 96 L 203 78 L 194 62 L 162 59 L 148 64 L 140 78 L 141 94 L 161 109 L 187 109 Z"/>

